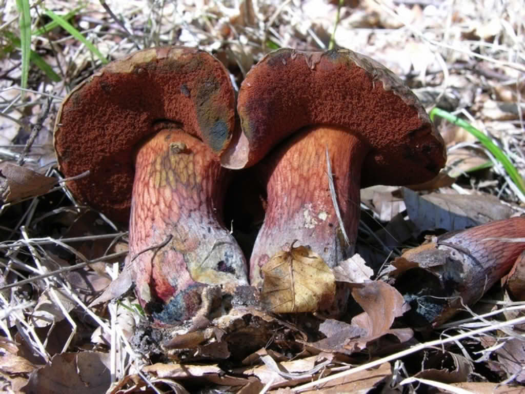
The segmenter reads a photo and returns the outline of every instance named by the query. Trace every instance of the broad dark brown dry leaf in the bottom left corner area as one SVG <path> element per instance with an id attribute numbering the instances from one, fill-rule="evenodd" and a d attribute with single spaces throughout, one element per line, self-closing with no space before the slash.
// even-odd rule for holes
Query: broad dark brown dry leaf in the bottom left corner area
<path id="1" fill-rule="evenodd" d="M 62 353 L 31 373 L 25 392 L 100 394 L 111 384 L 109 354 L 96 351 Z"/>

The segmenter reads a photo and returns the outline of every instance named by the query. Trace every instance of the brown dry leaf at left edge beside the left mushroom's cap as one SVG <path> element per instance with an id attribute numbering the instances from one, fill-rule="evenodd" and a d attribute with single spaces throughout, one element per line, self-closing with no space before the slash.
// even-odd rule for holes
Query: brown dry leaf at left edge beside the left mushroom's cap
<path id="1" fill-rule="evenodd" d="M 4 203 L 47 193 L 57 181 L 8 161 L 0 163 L 0 199 Z"/>

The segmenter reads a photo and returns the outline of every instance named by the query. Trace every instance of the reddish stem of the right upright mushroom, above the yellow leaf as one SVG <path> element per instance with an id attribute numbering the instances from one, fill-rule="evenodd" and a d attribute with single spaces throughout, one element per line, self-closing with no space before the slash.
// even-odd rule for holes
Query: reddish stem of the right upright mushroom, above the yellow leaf
<path id="1" fill-rule="evenodd" d="M 330 193 L 328 150 L 342 225 Z M 283 246 L 299 240 L 330 267 L 354 252 L 359 222 L 361 167 L 369 148 L 339 128 L 317 126 L 295 134 L 259 164 L 265 175 L 268 208 L 250 259 L 250 283 Z"/>

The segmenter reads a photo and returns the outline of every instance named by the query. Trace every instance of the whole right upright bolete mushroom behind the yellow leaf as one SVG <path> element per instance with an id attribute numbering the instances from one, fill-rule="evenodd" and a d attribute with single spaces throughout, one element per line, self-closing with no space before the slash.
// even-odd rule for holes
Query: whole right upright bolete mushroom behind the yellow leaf
<path id="1" fill-rule="evenodd" d="M 237 111 L 242 132 L 223 165 L 250 167 L 266 156 L 259 173 L 268 208 L 250 258 L 252 285 L 294 240 L 337 265 L 354 252 L 362 186 L 424 182 L 445 164 L 443 139 L 416 96 L 392 71 L 351 50 L 268 54 L 243 81 Z"/>

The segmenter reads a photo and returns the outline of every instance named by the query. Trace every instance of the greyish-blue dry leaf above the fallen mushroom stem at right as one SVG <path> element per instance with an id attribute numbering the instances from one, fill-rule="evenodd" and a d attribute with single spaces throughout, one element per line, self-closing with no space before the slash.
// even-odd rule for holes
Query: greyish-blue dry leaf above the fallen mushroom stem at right
<path id="1" fill-rule="evenodd" d="M 420 231 L 464 230 L 493 220 L 508 219 L 513 211 L 489 194 L 438 194 L 420 196 L 403 188 L 408 216 Z"/>

